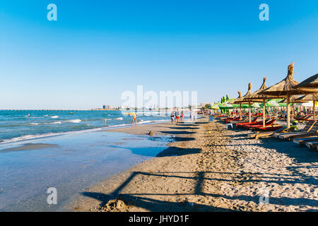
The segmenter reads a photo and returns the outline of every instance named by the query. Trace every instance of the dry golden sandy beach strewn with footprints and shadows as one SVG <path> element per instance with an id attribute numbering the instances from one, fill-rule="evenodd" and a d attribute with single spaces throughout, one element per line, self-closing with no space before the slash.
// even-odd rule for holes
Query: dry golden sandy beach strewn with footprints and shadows
<path id="1" fill-rule="evenodd" d="M 68 211 L 317 211 L 318 155 L 293 142 L 254 140 L 218 120 L 110 130 L 170 135 L 167 149 L 91 186 Z M 102 133 L 107 133 L 104 131 Z"/>

